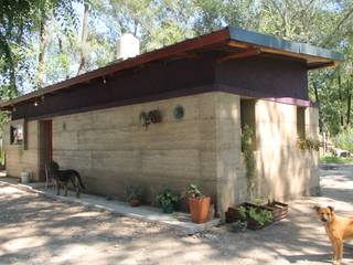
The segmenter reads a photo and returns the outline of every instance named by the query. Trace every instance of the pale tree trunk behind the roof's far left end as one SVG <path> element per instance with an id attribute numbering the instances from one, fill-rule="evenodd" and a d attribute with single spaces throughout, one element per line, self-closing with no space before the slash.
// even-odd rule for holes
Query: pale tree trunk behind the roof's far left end
<path id="1" fill-rule="evenodd" d="M 43 12 L 40 24 L 40 54 L 38 60 L 38 88 L 43 87 L 43 77 L 45 72 L 45 51 L 47 47 L 47 23 L 49 18 Z"/>

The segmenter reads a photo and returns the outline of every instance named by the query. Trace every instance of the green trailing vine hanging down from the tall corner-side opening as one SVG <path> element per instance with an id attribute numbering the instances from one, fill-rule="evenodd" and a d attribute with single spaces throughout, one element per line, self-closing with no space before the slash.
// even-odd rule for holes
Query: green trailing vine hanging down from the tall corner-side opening
<path id="1" fill-rule="evenodd" d="M 242 129 L 242 150 L 246 169 L 247 190 L 250 194 L 250 198 L 253 197 L 255 190 L 257 177 L 256 156 L 252 141 L 253 136 L 253 129 L 248 125 L 245 125 Z"/>

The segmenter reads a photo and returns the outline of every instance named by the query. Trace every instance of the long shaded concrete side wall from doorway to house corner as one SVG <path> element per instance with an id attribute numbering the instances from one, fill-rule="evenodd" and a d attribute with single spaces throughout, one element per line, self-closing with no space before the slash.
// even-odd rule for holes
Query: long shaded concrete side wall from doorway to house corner
<path id="1" fill-rule="evenodd" d="M 182 120 L 173 109 L 182 105 Z M 141 112 L 159 109 L 162 123 L 147 129 Z M 182 191 L 190 182 L 216 198 L 215 108 L 212 94 L 179 97 L 53 118 L 53 158 L 83 176 L 90 192 L 122 198 L 142 186 L 153 201 L 163 184 Z"/>

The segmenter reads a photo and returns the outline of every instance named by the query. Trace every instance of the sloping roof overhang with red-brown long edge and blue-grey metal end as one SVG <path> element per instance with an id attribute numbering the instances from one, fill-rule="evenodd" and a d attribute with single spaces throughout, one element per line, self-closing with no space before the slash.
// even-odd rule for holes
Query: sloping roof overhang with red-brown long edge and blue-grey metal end
<path id="1" fill-rule="evenodd" d="M 142 66 L 150 62 L 165 61 L 173 57 L 190 56 L 197 51 L 224 51 L 226 54 L 218 60 L 224 62 L 257 54 L 269 54 L 307 63 L 307 68 L 333 66 L 344 60 L 344 55 L 330 50 L 315 47 L 304 43 L 296 43 L 279 38 L 265 35 L 238 28 L 225 28 L 210 34 L 196 36 L 183 42 L 143 53 L 136 57 L 111 63 L 107 66 L 78 75 L 76 77 L 50 85 L 45 88 L 0 103 L 1 110 L 11 110 L 13 106 L 39 100 L 43 95 L 60 93 L 79 84 L 106 77 L 121 71 Z M 234 50 L 232 50 L 234 49 Z"/>

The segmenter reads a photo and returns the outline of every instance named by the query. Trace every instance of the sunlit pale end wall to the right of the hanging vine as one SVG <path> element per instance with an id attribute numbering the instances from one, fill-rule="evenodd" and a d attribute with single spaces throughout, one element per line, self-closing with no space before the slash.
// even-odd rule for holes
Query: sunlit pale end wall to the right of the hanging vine
<path id="1" fill-rule="evenodd" d="M 318 139 L 318 110 L 306 108 L 306 137 Z M 274 199 L 309 194 L 319 186 L 318 152 L 297 145 L 297 106 L 256 103 L 258 194 Z"/>

